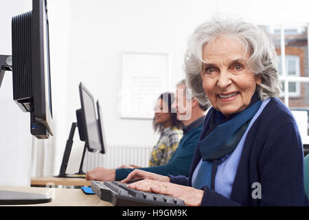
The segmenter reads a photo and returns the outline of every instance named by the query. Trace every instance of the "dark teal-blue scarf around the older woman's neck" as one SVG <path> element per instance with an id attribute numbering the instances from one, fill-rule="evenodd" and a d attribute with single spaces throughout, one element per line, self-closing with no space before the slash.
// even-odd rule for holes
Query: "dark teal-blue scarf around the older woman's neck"
<path id="1" fill-rule="evenodd" d="M 261 104 L 262 101 L 258 100 L 258 94 L 255 92 L 249 107 L 240 113 L 233 114 L 219 123 L 218 120 L 224 117 L 220 111 L 214 111 L 213 115 L 210 115 L 214 119 L 210 120 L 209 129 L 206 129 L 207 131 L 201 136 L 205 138 L 200 140 L 197 146 L 203 162 L 192 183 L 194 188 L 201 189 L 203 186 L 208 186 L 214 189 L 217 160 L 233 152 Z"/>

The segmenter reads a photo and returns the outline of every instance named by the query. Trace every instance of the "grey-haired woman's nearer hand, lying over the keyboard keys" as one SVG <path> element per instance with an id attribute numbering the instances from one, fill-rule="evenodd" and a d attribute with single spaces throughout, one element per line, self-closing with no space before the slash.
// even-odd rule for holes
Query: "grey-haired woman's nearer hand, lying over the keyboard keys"
<path id="1" fill-rule="evenodd" d="M 144 179 L 127 185 L 135 190 L 154 192 L 163 195 L 170 195 L 185 201 L 186 206 L 200 206 L 204 196 L 204 190 L 197 190 L 189 186 L 181 186 L 166 181 L 155 181 Z"/>

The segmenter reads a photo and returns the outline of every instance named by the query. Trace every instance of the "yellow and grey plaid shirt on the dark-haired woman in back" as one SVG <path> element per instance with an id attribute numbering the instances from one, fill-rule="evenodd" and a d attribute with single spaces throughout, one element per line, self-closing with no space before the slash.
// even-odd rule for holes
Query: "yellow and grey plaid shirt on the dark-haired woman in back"
<path id="1" fill-rule="evenodd" d="M 149 166 L 162 166 L 168 164 L 170 157 L 183 137 L 183 130 L 177 127 L 168 127 L 161 133 L 159 141 L 150 154 Z"/>

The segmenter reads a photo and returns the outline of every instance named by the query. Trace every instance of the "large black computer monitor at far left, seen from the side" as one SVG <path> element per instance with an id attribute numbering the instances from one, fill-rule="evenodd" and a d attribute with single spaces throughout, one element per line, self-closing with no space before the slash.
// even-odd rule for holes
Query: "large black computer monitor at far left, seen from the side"
<path id="1" fill-rule="evenodd" d="M 12 56 L 1 55 L 0 85 L 13 72 L 13 99 L 30 112 L 30 132 L 38 139 L 53 135 L 49 28 L 46 0 L 32 0 L 32 11 L 12 18 Z"/>

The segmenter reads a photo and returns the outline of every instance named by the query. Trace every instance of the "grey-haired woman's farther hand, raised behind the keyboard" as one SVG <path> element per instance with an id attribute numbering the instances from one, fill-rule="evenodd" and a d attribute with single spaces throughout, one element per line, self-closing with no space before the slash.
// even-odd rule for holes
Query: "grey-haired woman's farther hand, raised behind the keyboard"
<path id="1" fill-rule="evenodd" d="M 166 177 L 166 176 L 159 175 L 156 173 L 150 173 L 144 170 L 133 170 L 131 173 L 129 173 L 126 179 L 123 179 L 121 182 L 125 184 L 128 181 L 133 181 L 137 179 L 153 179 L 153 180 L 165 181 L 165 182 L 170 181 L 170 177 Z"/>

